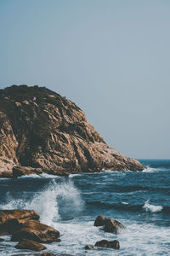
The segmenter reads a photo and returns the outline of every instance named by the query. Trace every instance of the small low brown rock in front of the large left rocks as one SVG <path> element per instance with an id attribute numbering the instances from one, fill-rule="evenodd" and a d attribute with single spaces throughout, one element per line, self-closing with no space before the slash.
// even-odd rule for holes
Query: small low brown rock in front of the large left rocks
<path id="1" fill-rule="evenodd" d="M 40 252 L 42 250 L 47 249 L 47 247 L 45 247 L 41 243 L 39 243 L 37 241 L 27 240 L 27 239 L 24 239 L 24 240 L 20 241 L 15 246 L 15 248 L 16 249 L 27 249 L 27 250 L 36 251 L 36 252 Z"/>

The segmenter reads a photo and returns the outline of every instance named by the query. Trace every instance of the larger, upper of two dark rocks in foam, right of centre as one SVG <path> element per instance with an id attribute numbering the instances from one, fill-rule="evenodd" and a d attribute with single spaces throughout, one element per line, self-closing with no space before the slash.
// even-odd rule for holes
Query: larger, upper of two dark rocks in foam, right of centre
<path id="1" fill-rule="evenodd" d="M 102 215 L 99 215 L 95 221 L 94 226 L 104 226 L 105 232 L 118 234 L 120 229 L 125 230 L 126 227 L 122 225 L 119 221 L 113 218 L 105 218 Z"/>

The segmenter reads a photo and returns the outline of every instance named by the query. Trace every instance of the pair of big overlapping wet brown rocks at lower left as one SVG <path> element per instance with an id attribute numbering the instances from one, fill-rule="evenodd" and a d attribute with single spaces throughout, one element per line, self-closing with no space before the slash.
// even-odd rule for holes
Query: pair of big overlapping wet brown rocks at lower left
<path id="1" fill-rule="evenodd" d="M 12 235 L 11 241 L 59 242 L 59 231 L 39 222 L 33 210 L 1 210 L 0 235 Z"/>

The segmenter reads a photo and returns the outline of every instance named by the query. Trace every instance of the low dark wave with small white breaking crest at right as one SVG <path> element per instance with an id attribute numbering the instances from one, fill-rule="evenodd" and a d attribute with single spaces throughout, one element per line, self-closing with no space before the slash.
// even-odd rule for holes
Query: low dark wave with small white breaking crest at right
<path id="1" fill-rule="evenodd" d="M 130 205 L 124 201 L 118 204 L 111 204 L 104 201 L 88 201 L 87 204 L 103 209 L 116 209 L 128 212 L 170 212 L 170 207 L 151 205 L 149 201 L 145 201 L 144 204 L 141 205 Z"/>

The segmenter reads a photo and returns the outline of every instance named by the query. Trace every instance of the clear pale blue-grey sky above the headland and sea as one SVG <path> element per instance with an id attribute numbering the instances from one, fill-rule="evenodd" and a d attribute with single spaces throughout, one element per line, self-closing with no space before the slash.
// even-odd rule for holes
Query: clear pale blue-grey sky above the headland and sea
<path id="1" fill-rule="evenodd" d="M 106 143 L 170 158 L 169 0 L 0 0 L 0 88 L 47 86 Z"/>

